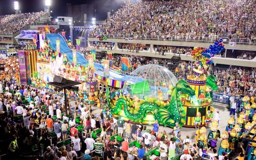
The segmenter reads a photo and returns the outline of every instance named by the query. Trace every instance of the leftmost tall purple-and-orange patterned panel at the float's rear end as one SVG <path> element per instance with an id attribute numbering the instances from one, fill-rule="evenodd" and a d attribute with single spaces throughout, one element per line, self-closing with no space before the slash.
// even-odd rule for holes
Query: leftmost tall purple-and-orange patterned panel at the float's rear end
<path id="1" fill-rule="evenodd" d="M 20 84 L 26 85 L 27 84 L 27 74 L 26 74 L 26 62 L 25 62 L 25 52 L 18 51 L 18 59 L 19 59 L 19 66 L 20 66 Z"/>

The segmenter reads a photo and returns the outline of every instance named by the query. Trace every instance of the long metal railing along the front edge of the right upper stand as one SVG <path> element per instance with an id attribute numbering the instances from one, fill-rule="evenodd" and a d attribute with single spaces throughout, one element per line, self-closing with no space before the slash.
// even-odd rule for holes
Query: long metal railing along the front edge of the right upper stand
<path id="1" fill-rule="evenodd" d="M 97 36 L 103 36 L 103 34 L 88 34 L 88 38 L 95 38 Z M 133 38 L 135 40 L 166 40 L 166 41 L 194 41 L 194 42 L 206 42 L 212 43 L 216 40 L 219 40 L 217 37 L 206 37 L 206 36 L 168 36 L 168 35 L 122 35 L 122 34 L 108 34 L 104 35 L 107 38 L 117 38 L 117 39 L 125 39 L 125 38 Z M 224 37 L 223 43 L 234 42 L 236 44 L 246 44 L 246 45 L 256 45 L 256 39 L 249 38 L 227 38 Z"/>

